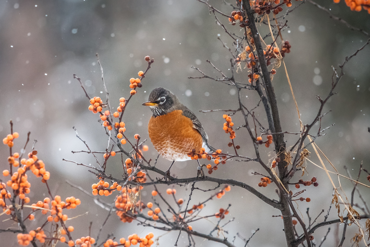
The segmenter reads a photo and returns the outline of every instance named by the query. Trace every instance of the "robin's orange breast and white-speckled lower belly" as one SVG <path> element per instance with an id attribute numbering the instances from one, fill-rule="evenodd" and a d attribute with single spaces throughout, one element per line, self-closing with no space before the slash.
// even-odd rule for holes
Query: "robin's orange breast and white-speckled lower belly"
<path id="1" fill-rule="evenodd" d="M 149 137 L 153 146 L 168 160 L 189 160 L 188 153 L 202 148 L 202 136 L 193 128 L 193 122 L 182 115 L 182 110 L 151 117 L 148 124 Z"/>

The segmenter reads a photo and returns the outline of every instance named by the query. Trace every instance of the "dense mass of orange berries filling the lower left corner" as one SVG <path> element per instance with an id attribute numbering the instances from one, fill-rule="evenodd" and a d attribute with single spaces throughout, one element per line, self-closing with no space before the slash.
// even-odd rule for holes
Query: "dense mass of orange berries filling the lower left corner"
<path id="1" fill-rule="evenodd" d="M 12 124 L 12 123 L 11 123 Z M 32 171 L 32 173 L 36 177 L 41 177 L 41 181 L 43 183 L 46 183 L 47 180 L 50 178 L 50 173 L 46 171 L 45 164 L 42 160 L 39 160 L 37 157 L 37 151 L 33 150 L 30 153 L 28 153 L 28 158 L 21 158 L 19 153 L 12 153 L 12 147 L 14 146 L 14 138 L 18 138 L 19 134 L 14 132 L 13 134 L 7 135 L 6 138 L 3 139 L 3 143 L 8 145 L 10 147 L 10 156 L 7 158 L 8 163 L 10 165 L 10 171 L 9 170 L 3 170 L 3 176 L 7 177 L 10 176 L 10 180 L 8 180 L 6 183 L 0 183 L 0 207 L 3 209 L 3 214 L 11 215 L 11 220 L 14 220 L 14 222 L 19 222 L 19 219 L 16 215 L 16 210 L 24 210 L 31 208 L 30 213 L 26 213 L 23 222 L 25 220 L 34 220 L 36 211 L 41 211 L 41 214 L 49 214 L 47 217 L 47 222 L 60 221 L 61 223 L 63 221 L 66 221 L 68 219 L 67 214 L 63 214 L 63 209 L 71 209 L 77 207 L 77 205 L 81 204 L 80 199 L 76 199 L 75 197 L 67 197 L 64 201 L 61 201 L 60 196 L 55 196 L 54 200 L 51 201 L 50 197 L 44 198 L 43 201 L 37 201 L 37 203 L 32 203 L 31 206 L 28 206 L 26 204 L 30 203 L 30 198 L 26 197 L 26 194 L 30 193 L 30 187 L 31 183 L 28 181 L 28 174 L 27 171 Z M 18 160 L 16 160 L 18 159 Z M 20 166 L 21 165 L 21 166 Z M 20 167 L 19 167 L 20 166 Z M 19 167 L 17 171 L 13 172 L 13 167 Z M 0 180 L 1 181 L 1 180 Z M 9 187 L 13 191 L 12 194 L 7 190 L 6 187 Z M 47 185 L 48 186 L 48 185 Z M 50 190 L 49 190 L 50 194 Z M 18 197 L 18 199 L 17 199 Z M 6 200 L 9 200 L 9 203 L 6 203 Z M 10 200 L 16 200 L 18 204 L 21 205 L 21 207 L 12 207 L 12 202 Z M 18 202 L 19 201 L 19 202 Z M 36 221 L 37 222 L 37 221 Z M 38 221 L 40 222 L 40 221 Z M 46 224 L 45 223 L 45 224 Z M 45 224 L 43 226 L 45 226 Z M 64 224 L 62 224 L 63 227 Z M 53 225 L 55 227 L 55 225 Z M 70 226 L 63 230 L 61 230 L 61 234 L 65 234 L 65 231 L 68 230 L 69 232 L 73 231 L 73 226 Z M 57 229 L 51 230 L 57 231 Z M 47 238 L 47 235 L 44 233 L 43 227 L 38 227 L 36 230 L 29 231 L 28 234 L 18 234 L 17 235 L 18 243 L 21 246 L 28 246 L 33 241 L 40 241 L 40 243 L 45 243 Z M 65 242 L 65 237 L 58 238 L 62 243 Z M 74 246 L 73 241 L 68 242 L 69 246 Z"/>

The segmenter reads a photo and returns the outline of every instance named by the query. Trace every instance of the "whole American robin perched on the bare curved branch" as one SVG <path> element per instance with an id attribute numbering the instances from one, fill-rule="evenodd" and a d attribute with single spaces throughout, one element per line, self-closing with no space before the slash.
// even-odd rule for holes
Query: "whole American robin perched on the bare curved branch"
<path id="1" fill-rule="evenodd" d="M 195 114 L 169 90 L 154 89 L 149 94 L 149 101 L 142 105 L 150 106 L 153 113 L 148 124 L 153 146 L 162 157 L 172 160 L 167 175 L 175 161 L 190 160 L 188 153 L 193 149 L 196 153 L 202 147 L 206 152 L 215 151 L 209 146 L 208 136 Z"/>

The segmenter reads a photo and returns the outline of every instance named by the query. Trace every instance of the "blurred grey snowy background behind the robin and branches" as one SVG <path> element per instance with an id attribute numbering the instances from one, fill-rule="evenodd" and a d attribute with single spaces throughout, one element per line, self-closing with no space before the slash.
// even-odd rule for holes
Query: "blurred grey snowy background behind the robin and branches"
<path id="1" fill-rule="evenodd" d="M 233 3 L 233 1 L 231 1 Z M 301 3 L 293 1 L 293 7 Z M 342 17 L 353 26 L 370 30 L 370 15 L 366 11 L 359 13 L 350 11 L 344 1 L 334 4 L 332 1 L 317 1 L 334 15 Z M 211 1 L 215 7 L 230 13 L 231 7 L 221 1 Z M 285 13 L 286 7 L 283 7 Z M 239 36 L 242 31 L 238 25 L 231 26 L 225 17 L 218 16 L 226 27 Z M 283 32 L 285 40 L 292 45 L 292 52 L 285 57 L 292 87 L 297 104 L 302 114 L 304 124 L 310 123 L 317 114 L 319 101 L 315 96 L 326 97 L 331 86 L 332 67 L 343 63 L 344 58 L 361 47 L 367 38 L 359 32 L 351 31 L 343 24 L 328 17 L 322 10 L 310 3 L 302 4 L 298 9 L 287 16 L 289 28 Z M 265 36 L 268 29 L 265 25 L 259 27 Z M 80 198 L 82 203 L 77 209 L 68 211 L 73 217 L 88 211 L 88 214 L 67 222 L 73 225 L 74 239 L 88 235 L 88 225 L 92 224 L 92 236 L 96 234 L 108 212 L 96 206 L 91 197 L 81 191 L 71 188 L 65 183 L 72 183 L 91 191 L 91 184 L 97 179 L 87 171 L 86 167 L 76 166 L 62 161 L 62 158 L 75 160 L 86 164 L 95 163 L 92 156 L 72 154 L 71 150 L 85 150 L 83 143 L 75 137 L 72 129 L 75 126 L 92 150 L 104 151 L 107 146 L 107 136 L 98 123 L 98 116 L 88 111 L 89 102 L 85 98 L 73 74 L 77 74 L 84 83 L 90 96 L 100 96 L 103 101 L 105 94 L 100 78 L 95 53 L 100 54 L 104 68 L 107 89 L 110 92 L 110 101 L 113 108 L 118 106 L 120 97 L 128 98 L 129 78 L 137 77 L 139 70 L 145 70 L 147 63 L 145 56 L 155 60 L 152 69 L 142 81 L 143 87 L 132 98 L 125 112 L 124 121 L 127 136 L 133 138 L 139 133 L 143 139 L 148 138 L 147 123 L 151 112 L 141 106 L 147 101 L 150 91 L 156 87 L 165 87 L 175 93 L 186 106 L 198 116 L 205 126 L 212 146 L 224 151 L 232 150 L 227 147 L 228 134 L 222 130 L 223 118 L 221 112 L 200 113 L 198 110 L 237 109 L 237 97 L 233 87 L 208 79 L 188 79 L 189 76 L 200 76 L 191 66 L 198 67 L 205 73 L 216 76 L 212 67 L 206 63 L 209 59 L 227 75 L 230 74 L 229 52 L 217 40 L 220 38 L 232 46 L 231 39 L 217 25 L 213 14 L 208 8 L 196 0 L 136 0 L 136 1 L 104 1 L 104 0 L 10 0 L 0 1 L 0 135 L 5 137 L 10 133 L 9 120 L 14 121 L 14 130 L 20 133 L 14 148 L 20 150 L 26 141 L 26 133 L 31 131 L 31 140 L 37 139 L 36 149 L 38 157 L 44 160 L 46 169 L 50 171 L 50 186 L 53 194 L 59 194 L 63 200 L 67 196 Z M 266 43 L 271 43 L 271 38 Z M 366 47 L 354 57 L 345 68 L 345 76 L 337 86 L 338 94 L 325 106 L 324 112 L 332 110 L 322 121 L 327 127 L 332 123 L 335 126 L 326 131 L 326 136 L 320 137 L 316 143 L 327 157 L 345 174 L 343 166 L 350 167 L 352 176 L 357 176 L 358 167 L 363 160 L 364 167 L 369 169 L 370 133 L 370 47 Z M 237 79 L 248 83 L 247 70 L 236 75 Z M 299 122 L 295 104 L 289 90 L 283 67 L 277 69 L 273 85 L 279 104 L 280 119 L 283 131 L 299 131 Z M 249 108 L 258 103 L 254 91 L 242 91 L 244 104 Z M 266 117 L 262 107 L 255 110 L 259 120 L 266 124 Z M 239 114 L 233 116 L 235 126 L 243 124 Z M 318 127 L 318 126 L 316 126 Z M 317 131 L 317 128 L 316 130 Z M 314 131 L 313 131 L 314 133 Z M 286 135 L 287 146 L 293 145 L 297 136 Z M 250 138 L 244 129 L 236 131 L 236 144 L 242 148 L 240 153 L 255 157 Z M 157 157 L 150 140 L 146 142 L 149 151 L 145 153 L 147 159 Z M 127 144 L 128 145 L 128 144 Z M 128 146 L 127 150 L 129 150 Z M 31 145 L 28 146 L 30 149 Z M 28 150 L 29 150 L 28 149 Z M 27 150 L 27 151 L 28 151 Z M 130 149 L 131 150 L 131 149 Z M 312 148 L 311 160 L 319 164 L 319 160 Z M 266 162 L 272 158 L 273 148 L 261 147 L 260 152 Z M 7 168 L 6 158 L 8 148 L 0 147 L 0 158 L 3 168 Z M 99 157 L 103 160 L 102 157 Z M 121 177 L 122 168 L 120 157 L 110 159 L 108 174 Z M 159 158 L 158 167 L 167 169 L 170 161 Z M 179 177 L 196 175 L 196 162 L 186 161 L 175 163 L 172 174 Z M 329 164 L 327 164 L 329 167 Z M 256 163 L 228 162 L 220 165 L 211 176 L 232 178 L 248 183 L 263 191 L 270 198 L 277 199 L 274 186 L 259 188 L 257 184 L 260 176 L 251 175 L 251 172 L 262 172 Z M 306 208 L 310 207 L 314 218 L 322 209 L 329 208 L 332 200 L 332 186 L 322 170 L 312 164 L 307 166 L 308 174 L 302 179 L 309 180 L 317 177 L 319 187 L 307 187 L 304 197 L 310 197 L 311 202 L 298 202 L 298 209 L 304 216 L 307 224 Z M 306 176 L 307 175 L 307 176 Z M 332 176 L 337 183 L 335 175 Z M 299 174 L 292 181 L 297 181 Z M 47 190 L 40 179 L 32 174 L 30 197 L 33 202 L 47 196 Z M 369 184 L 365 174 L 360 178 L 363 183 Z M 342 186 L 350 197 L 352 186 L 349 181 L 341 178 Z M 196 184 L 204 189 L 212 188 L 215 184 Z M 338 184 L 337 184 L 338 186 Z M 165 190 L 167 186 L 159 186 Z M 175 187 L 178 198 L 187 198 L 188 186 Z M 369 199 L 369 190 L 359 186 L 363 196 Z M 297 191 L 294 187 L 293 191 Z M 142 200 L 152 201 L 146 187 L 142 193 Z M 203 193 L 194 191 L 190 205 L 199 203 L 212 192 Z M 168 195 L 166 195 L 168 196 Z M 100 197 L 111 202 L 114 197 Z M 170 197 L 168 196 L 168 200 Z M 356 195 L 355 202 L 359 202 Z M 172 203 L 174 203 L 172 201 Z M 221 199 L 207 203 L 201 213 L 203 216 L 218 212 L 220 207 L 226 208 L 231 203 L 230 214 L 236 219 L 225 227 L 223 233 L 232 240 L 236 233 L 248 238 L 254 230 L 260 231 L 249 242 L 249 246 L 285 246 L 285 237 L 282 231 L 282 220 L 279 211 L 266 205 L 253 194 L 241 188 L 234 188 Z M 361 203 L 360 203 L 361 205 Z M 146 212 L 146 211 L 145 211 Z M 43 215 L 36 213 L 36 220 L 29 223 L 29 230 L 40 226 L 44 221 Z M 332 209 L 329 219 L 337 218 L 335 208 Z M 1 220 L 6 219 L 2 216 Z M 322 221 L 320 216 L 318 221 Z M 10 226 L 10 221 L 1 222 L 1 228 Z M 217 221 L 214 218 L 194 223 L 193 229 L 209 233 Z M 363 223 L 364 225 L 364 221 Z M 341 226 L 333 225 L 328 240 L 324 246 L 334 246 L 337 237 L 342 236 Z M 206 230 L 209 229 L 209 230 Z M 297 228 L 301 233 L 300 227 Z M 101 239 L 107 234 L 114 233 L 115 237 L 125 237 L 132 233 L 145 236 L 153 232 L 155 237 L 165 232 L 137 226 L 133 222 L 122 223 L 115 214 L 103 228 Z M 316 243 L 327 231 L 327 227 L 316 231 Z M 350 238 L 358 231 L 356 226 L 347 229 L 345 245 L 350 244 Z M 171 232 L 159 238 L 160 246 L 172 246 L 178 232 Z M 268 237 L 266 237 L 268 236 Z M 17 246 L 15 234 L 2 234 L 3 246 Z M 188 238 L 185 234 L 180 237 L 179 246 L 187 246 Z M 203 241 L 195 237 L 197 246 L 222 246 L 221 244 Z M 62 245 L 62 244 L 61 244 Z M 236 246 L 244 246 L 240 238 L 235 240 Z"/>

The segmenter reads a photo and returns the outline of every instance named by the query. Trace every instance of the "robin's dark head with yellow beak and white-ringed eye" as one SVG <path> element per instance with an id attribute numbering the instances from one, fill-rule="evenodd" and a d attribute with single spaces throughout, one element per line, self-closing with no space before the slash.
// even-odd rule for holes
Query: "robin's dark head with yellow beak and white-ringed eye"
<path id="1" fill-rule="evenodd" d="M 154 117 L 170 113 L 176 110 L 176 107 L 182 106 L 177 97 L 163 87 L 153 89 L 149 94 L 149 101 L 142 103 L 142 105 L 150 106 Z"/>

